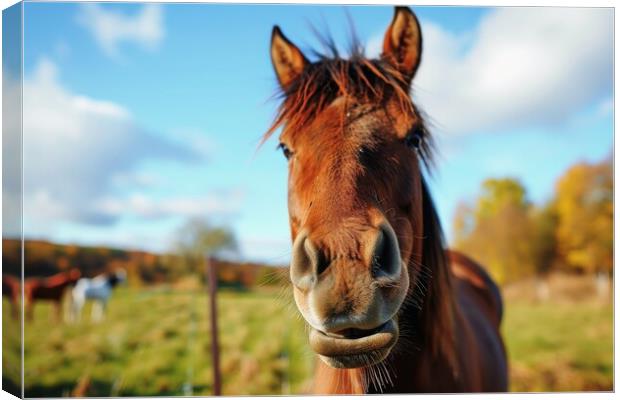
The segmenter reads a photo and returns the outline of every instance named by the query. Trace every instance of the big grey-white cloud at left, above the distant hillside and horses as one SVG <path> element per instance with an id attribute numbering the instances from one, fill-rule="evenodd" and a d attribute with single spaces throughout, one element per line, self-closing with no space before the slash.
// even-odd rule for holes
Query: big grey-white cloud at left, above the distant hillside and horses
<path id="1" fill-rule="evenodd" d="M 101 209 L 99 202 L 119 196 L 119 177 L 140 176 L 135 170 L 146 159 L 198 157 L 185 146 L 149 134 L 120 105 L 68 91 L 48 60 L 25 79 L 23 100 L 29 229 L 47 229 L 59 221 L 113 223 L 120 214 Z"/>

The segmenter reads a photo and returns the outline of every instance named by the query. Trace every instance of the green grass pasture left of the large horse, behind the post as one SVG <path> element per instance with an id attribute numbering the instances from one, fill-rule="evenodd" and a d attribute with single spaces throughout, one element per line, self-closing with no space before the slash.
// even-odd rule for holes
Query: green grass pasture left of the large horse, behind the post
<path id="1" fill-rule="evenodd" d="M 313 360 L 299 334 L 303 324 L 276 297 L 220 293 L 224 394 L 306 390 Z M 38 304 L 26 322 L 26 396 L 68 396 L 80 383 L 89 396 L 212 393 L 204 291 L 121 288 L 100 324 L 90 322 L 88 306 L 77 324 L 59 324 L 51 311 Z"/>

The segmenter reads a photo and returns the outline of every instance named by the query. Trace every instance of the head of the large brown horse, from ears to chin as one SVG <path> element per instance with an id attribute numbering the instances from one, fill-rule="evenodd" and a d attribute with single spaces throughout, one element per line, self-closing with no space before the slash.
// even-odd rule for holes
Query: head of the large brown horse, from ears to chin
<path id="1" fill-rule="evenodd" d="M 310 62 L 273 29 L 284 100 L 267 135 L 282 127 L 290 277 L 310 345 L 333 367 L 387 357 L 423 272 L 421 166 L 431 144 L 409 95 L 421 51 L 418 20 L 405 7 L 373 60 L 354 50 Z"/>

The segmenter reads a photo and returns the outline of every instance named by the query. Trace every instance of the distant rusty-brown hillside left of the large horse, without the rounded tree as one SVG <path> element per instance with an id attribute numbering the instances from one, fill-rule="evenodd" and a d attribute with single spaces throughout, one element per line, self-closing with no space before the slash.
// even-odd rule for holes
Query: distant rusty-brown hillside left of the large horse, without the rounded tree
<path id="1" fill-rule="evenodd" d="M 40 240 L 26 240 L 24 275 L 49 276 L 78 268 L 92 277 L 117 268 L 127 270 L 131 284 L 174 282 L 183 272 L 176 268 L 176 256 L 145 251 L 106 247 L 61 245 Z M 2 273 L 20 274 L 20 246 L 17 239 L 2 240 Z M 216 261 L 218 282 L 222 286 L 249 288 L 257 284 L 281 284 L 282 268 L 255 263 Z"/>

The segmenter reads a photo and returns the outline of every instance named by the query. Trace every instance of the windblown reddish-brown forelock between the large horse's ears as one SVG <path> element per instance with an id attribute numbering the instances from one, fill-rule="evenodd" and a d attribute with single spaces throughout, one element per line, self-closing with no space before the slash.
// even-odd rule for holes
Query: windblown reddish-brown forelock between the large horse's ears
<path id="1" fill-rule="evenodd" d="M 315 32 L 316 33 L 316 32 Z M 384 104 L 395 98 L 403 113 L 419 117 L 416 129 L 421 136 L 419 155 L 430 171 L 433 164 L 434 142 L 423 119 L 423 113 L 413 103 L 409 83 L 403 74 L 388 61 L 368 59 L 365 50 L 352 33 L 351 49 L 347 58 L 341 58 L 333 39 L 321 37 L 328 53 L 312 49 L 318 59 L 306 66 L 304 71 L 286 88 L 279 88 L 276 97 L 280 105 L 271 126 L 263 135 L 264 143 L 278 129 L 299 132 L 317 115 L 339 97 L 353 98 L 362 103 Z M 344 122 L 343 109 L 341 120 Z"/>

